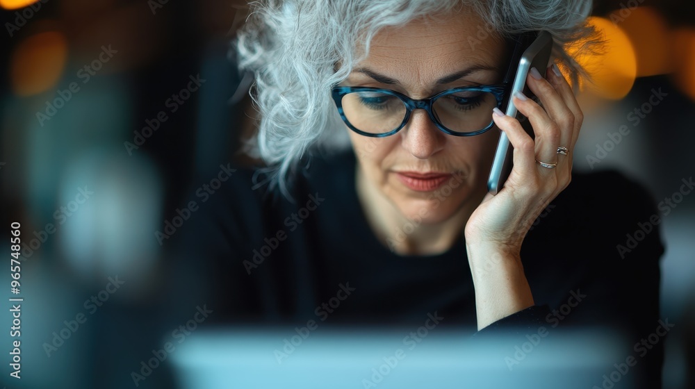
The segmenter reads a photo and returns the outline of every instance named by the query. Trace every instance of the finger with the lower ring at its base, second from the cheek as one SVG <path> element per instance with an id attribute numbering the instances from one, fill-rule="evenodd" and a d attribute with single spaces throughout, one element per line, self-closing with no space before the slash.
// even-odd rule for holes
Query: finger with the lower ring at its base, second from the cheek
<path id="1" fill-rule="evenodd" d="M 543 163 L 557 163 L 557 145 L 560 142 L 559 126 L 543 107 L 529 99 L 525 94 L 518 92 L 512 97 L 516 109 L 528 117 L 535 135 L 535 156 Z"/>

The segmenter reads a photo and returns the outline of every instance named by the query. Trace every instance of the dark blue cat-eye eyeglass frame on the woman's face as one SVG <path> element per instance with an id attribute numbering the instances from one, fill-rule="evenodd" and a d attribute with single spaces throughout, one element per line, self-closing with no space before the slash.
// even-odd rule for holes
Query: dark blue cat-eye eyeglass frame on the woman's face
<path id="1" fill-rule="evenodd" d="M 432 106 L 434 105 L 434 101 L 436 99 L 439 99 L 440 97 L 443 97 L 448 94 L 452 93 L 458 93 L 458 92 L 489 92 L 492 93 L 495 98 L 497 99 L 497 108 L 500 108 L 502 106 L 502 101 L 505 100 L 505 96 L 509 90 L 509 84 L 508 83 L 503 83 L 503 84 L 498 84 L 498 85 L 481 85 L 481 86 L 466 86 L 466 87 L 461 87 L 461 88 L 453 88 L 453 89 L 448 89 L 443 92 L 439 92 L 435 94 L 432 97 L 427 97 L 427 99 L 411 99 L 410 97 L 407 97 L 405 94 L 396 92 L 395 90 L 390 90 L 390 89 L 382 89 L 382 88 L 373 88 L 373 87 L 368 87 L 368 86 L 359 86 L 359 87 L 353 87 L 353 86 L 334 86 L 332 88 L 332 95 L 333 95 L 333 100 L 336 103 L 336 107 L 338 107 L 338 113 L 340 113 L 341 118 L 343 119 L 343 122 L 347 124 L 350 129 L 356 133 L 359 133 L 360 135 L 364 136 L 369 136 L 372 138 L 384 138 L 389 135 L 393 135 L 400 131 L 407 123 L 408 120 L 410 119 L 410 114 L 413 112 L 413 110 L 416 109 L 423 109 L 427 111 L 427 115 L 430 116 L 430 119 L 432 119 L 432 122 L 437 126 L 437 128 L 442 131 L 445 134 L 448 135 L 454 135 L 454 136 L 475 136 L 475 135 L 480 135 L 489 129 L 492 128 L 494 122 L 492 119 L 490 119 L 490 124 L 488 124 L 484 129 L 472 132 L 472 133 L 461 133 L 457 131 L 451 131 L 450 129 L 447 129 L 443 124 L 439 122 L 439 119 L 437 119 L 434 116 L 434 112 L 432 111 Z M 405 104 L 406 107 L 406 112 L 405 116 L 403 118 L 403 122 L 398 126 L 393 131 L 389 131 L 388 133 L 366 133 L 364 131 L 361 131 L 359 129 L 356 129 L 352 124 L 350 123 L 349 120 L 347 120 L 347 117 L 345 117 L 345 112 L 343 111 L 343 96 L 348 93 L 352 92 L 379 92 L 379 93 L 386 93 L 386 94 L 391 94 L 395 97 L 398 97 L 401 101 L 403 101 L 403 104 Z"/>

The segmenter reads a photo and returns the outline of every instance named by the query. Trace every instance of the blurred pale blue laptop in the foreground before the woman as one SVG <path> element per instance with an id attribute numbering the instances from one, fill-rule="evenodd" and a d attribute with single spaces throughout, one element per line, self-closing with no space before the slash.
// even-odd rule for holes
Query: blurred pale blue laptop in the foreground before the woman
<path id="1" fill-rule="evenodd" d="M 424 328 L 200 330 L 170 358 L 185 389 L 612 388 L 626 359 L 606 333 L 551 329 L 520 342 Z M 630 387 L 629 370 L 617 381 Z"/>

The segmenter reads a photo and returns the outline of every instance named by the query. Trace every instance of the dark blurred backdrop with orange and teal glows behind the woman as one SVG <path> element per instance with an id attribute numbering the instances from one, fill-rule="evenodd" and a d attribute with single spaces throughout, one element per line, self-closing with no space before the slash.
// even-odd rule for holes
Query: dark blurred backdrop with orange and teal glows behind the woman
<path id="1" fill-rule="evenodd" d="M 2 363 L 0 382 L 130 387 L 144 356 L 113 333 L 156 320 L 165 264 L 154 231 L 183 207 L 193 177 L 240 158 L 248 85 L 228 52 L 245 1 L 0 0 L 0 8 L 0 252 L 10 252 L 4 237 L 20 222 L 26 299 L 23 379 L 8 381 Z M 655 201 L 669 199 L 660 208 L 662 317 L 676 327 L 664 388 L 695 388 L 695 195 L 677 195 L 695 175 L 695 3 L 596 1 L 591 23 L 607 48 L 580 59 L 594 82 L 582 84 L 574 166 L 619 169 Z M 0 277 L 9 283 L 6 267 Z M 111 310 L 141 322 L 119 322 Z M 3 313 L 3 328 L 10 320 Z M 8 333 L 0 338 L 8 349 Z M 101 349 L 133 353 L 115 381 L 102 374 Z"/>

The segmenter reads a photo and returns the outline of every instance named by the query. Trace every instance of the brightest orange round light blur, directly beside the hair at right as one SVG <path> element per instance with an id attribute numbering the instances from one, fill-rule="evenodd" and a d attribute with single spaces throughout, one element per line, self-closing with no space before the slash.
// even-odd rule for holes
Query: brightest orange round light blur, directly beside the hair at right
<path id="1" fill-rule="evenodd" d="M 591 82 L 584 83 L 582 89 L 606 99 L 622 99 L 632 89 L 637 76 L 635 49 L 628 35 L 610 20 L 589 17 L 588 22 L 600 32 L 605 47 L 600 55 L 580 53 L 576 57 L 591 76 Z M 576 54 L 576 48 L 581 46 L 582 42 L 579 42 L 568 51 L 571 55 Z"/>

